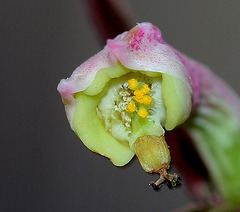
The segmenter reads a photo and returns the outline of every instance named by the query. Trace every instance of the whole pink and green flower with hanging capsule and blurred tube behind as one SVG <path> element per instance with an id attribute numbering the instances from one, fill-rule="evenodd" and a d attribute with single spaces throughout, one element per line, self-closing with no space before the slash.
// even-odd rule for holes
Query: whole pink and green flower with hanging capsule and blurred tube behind
<path id="1" fill-rule="evenodd" d="M 165 137 L 184 149 L 170 132 L 181 129 L 200 150 L 213 190 L 239 203 L 239 98 L 206 66 L 168 45 L 151 23 L 108 40 L 57 89 L 71 128 L 90 150 L 117 166 L 136 154 L 145 171 L 160 173 L 154 185 L 168 179 L 175 186 L 178 175 L 166 172 Z"/>

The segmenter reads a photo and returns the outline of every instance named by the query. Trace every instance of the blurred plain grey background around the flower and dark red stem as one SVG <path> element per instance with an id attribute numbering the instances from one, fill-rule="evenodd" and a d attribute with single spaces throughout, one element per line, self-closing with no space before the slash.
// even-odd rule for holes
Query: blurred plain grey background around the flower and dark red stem
<path id="1" fill-rule="evenodd" d="M 137 22 L 240 93 L 239 0 L 128 2 Z M 158 176 L 137 159 L 117 168 L 71 131 L 56 86 L 102 48 L 80 0 L 3 0 L 0 24 L 1 211 L 171 211 L 191 201 L 184 185 L 154 192 Z"/>

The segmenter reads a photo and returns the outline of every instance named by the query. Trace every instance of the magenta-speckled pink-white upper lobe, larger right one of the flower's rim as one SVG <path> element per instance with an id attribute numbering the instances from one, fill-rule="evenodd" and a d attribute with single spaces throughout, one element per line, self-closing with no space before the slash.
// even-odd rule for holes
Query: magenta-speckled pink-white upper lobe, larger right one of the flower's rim
<path id="1" fill-rule="evenodd" d="M 151 23 L 141 23 L 108 40 L 107 46 L 125 67 L 139 71 L 166 73 L 181 79 L 191 90 L 189 74 L 179 57 L 163 41 L 161 32 Z"/>

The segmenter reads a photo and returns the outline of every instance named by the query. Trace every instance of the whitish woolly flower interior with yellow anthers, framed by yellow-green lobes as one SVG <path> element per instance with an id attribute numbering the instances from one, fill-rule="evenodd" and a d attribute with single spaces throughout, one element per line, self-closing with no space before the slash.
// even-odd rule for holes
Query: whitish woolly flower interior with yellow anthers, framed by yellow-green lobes
<path id="1" fill-rule="evenodd" d="M 112 79 L 96 111 L 105 129 L 119 141 L 132 145 L 145 132 L 159 135 L 165 121 L 161 78 L 130 73 Z"/>

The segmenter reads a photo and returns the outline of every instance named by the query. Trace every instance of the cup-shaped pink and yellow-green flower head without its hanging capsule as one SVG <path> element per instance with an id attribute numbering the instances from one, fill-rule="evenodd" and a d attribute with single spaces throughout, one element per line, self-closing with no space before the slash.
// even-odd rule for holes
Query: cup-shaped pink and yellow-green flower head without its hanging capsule
<path id="1" fill-rule="evenodd" d="M 138 83 L 135 90 L 131 79 Z M 133 157 L 138 138 L 164 135 L 165 129 L 183 123 L 192 108 L 190 76 L 150 23 L 108 40 L 61 80 L 58 91 L 82 142 L 119 166 Z"/>

